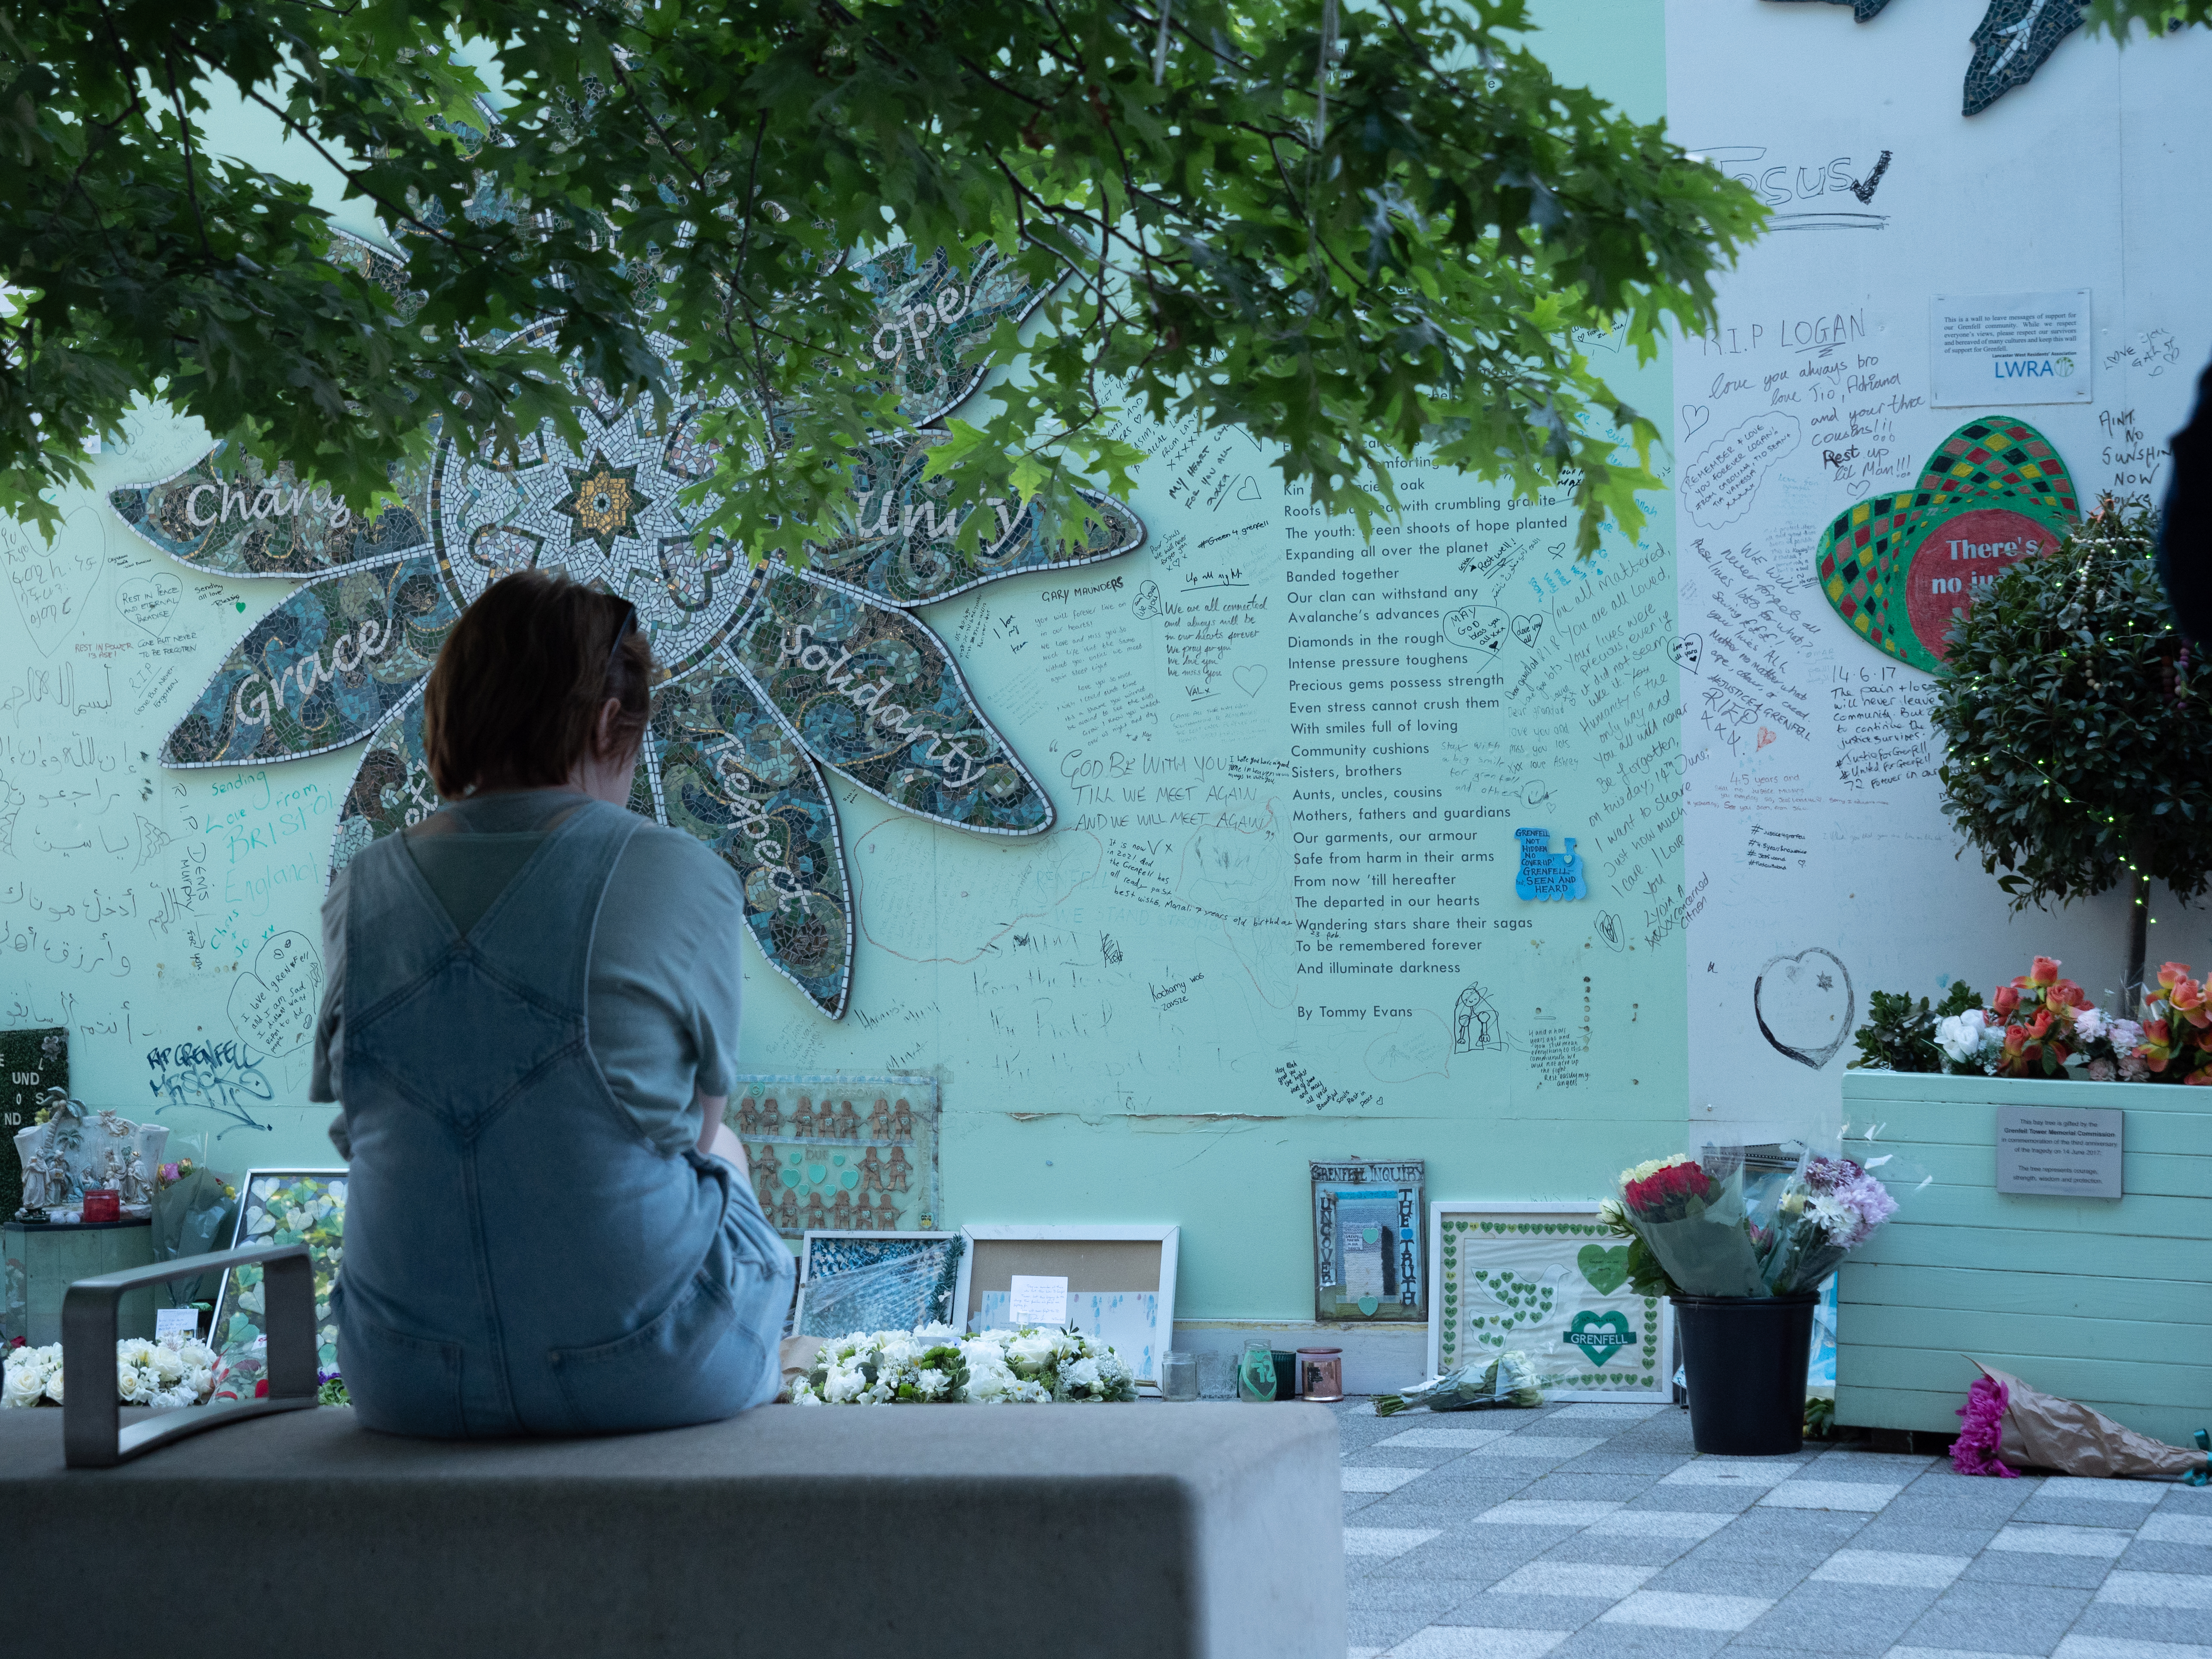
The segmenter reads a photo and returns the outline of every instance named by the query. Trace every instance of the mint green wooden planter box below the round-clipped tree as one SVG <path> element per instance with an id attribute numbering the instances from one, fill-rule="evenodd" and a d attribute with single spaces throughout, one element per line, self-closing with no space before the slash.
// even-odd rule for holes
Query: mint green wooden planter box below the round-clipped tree
<path id="1" fill-rule="evenodd" d="M 2126 1110 L 2126 1197 L 1997 1192 L 2000 1104 Z M 1843 1115 L 1898 1214 L 1838 1274 L 1836 1422 L 1958 1433 L 1973 1354 L 2159 1440 L 2212 1427 L 2212 1088 L 1854 1071 Z"/>

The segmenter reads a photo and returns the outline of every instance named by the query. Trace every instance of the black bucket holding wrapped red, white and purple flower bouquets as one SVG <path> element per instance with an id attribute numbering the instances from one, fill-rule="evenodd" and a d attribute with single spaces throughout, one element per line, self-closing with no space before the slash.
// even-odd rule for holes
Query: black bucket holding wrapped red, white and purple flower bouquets
<path id="1" fill-rule="evenodd" d="M 1708 1146 L 1621 1172 L 1606 1219 L 1630 1241 L 1630 1283 L 1674 1303 L 1699 1451 L 1783 1458 L 1805 1444 L 1820 1285 L 1896 1208 L 1847 1157 L 1747 1164 L 1741 1146 Z"/>

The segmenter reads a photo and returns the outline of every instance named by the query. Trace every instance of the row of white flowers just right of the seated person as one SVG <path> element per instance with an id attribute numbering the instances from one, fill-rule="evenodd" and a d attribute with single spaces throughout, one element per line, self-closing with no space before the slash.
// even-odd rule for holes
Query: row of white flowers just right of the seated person
<path id="1" fill-rule="evenodd" d="M 951 1325 L 856 1332 L 823 1343 L 792 1383 L 792 1405 L 1124 1402 L 1137 1378 L 1113 1347 L 1082 1332 L 1024 1325 L 964 1336 Z"/>

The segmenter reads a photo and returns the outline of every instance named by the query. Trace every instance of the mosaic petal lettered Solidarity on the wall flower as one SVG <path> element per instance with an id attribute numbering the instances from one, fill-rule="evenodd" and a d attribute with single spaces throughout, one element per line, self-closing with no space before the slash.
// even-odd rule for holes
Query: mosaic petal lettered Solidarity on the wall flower
<path id="1" fill-rule="evenodd" d="M 918 617 L 810 571 L 774 571 L 734 655 L 807 750 L 878 801 L 1002 836 L 1053 827 L 1051 799 Z"/>

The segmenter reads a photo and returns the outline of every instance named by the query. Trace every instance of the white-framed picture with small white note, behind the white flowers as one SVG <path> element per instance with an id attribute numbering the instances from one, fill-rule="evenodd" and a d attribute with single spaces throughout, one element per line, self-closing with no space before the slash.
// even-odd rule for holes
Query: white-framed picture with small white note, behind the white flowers
<path id="1" fill-rule="evenodd" d="M 960 1228 L 956 1325 L 989 1332 L 1042 1323 L 1018 1318 L 1051 1296 L 1064 1323 L 1104 1336 L 1137 1385 L 1159 1389 L 1159 1356 L 1175 1347 L 1175 1250 L 1181 1228 L 1079 1223 Z M 1015 1283 L 1022 1281 L 1022 1283 Z M 1046 1281 L 1046 1283 L 1037 1283 Z"/>

